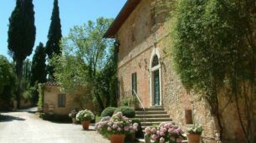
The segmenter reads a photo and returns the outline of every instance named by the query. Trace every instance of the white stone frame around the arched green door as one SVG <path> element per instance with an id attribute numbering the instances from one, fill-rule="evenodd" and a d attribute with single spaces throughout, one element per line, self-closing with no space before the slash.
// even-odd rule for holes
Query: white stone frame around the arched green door
<path id="1" fill-rule="evenodd" d="M 158 57 L 158 62 L 159 65 L 157 65 L 156 67 L 152 67 L 152 62 L 153 62 L 153 58 L 157 56 Z M 153 51 L 151 52 L 151 62 L 150 62 L 150 98 L 151 98 L 151 104 L 150 106 L 155 106 L 154 104 L 154 78 L 153 78 L 153 73 L 156 72 L 156 70 L 159 70 L 159 92 L 160 92 L 160 99 L 159 99 L 159 106 L 162 106 L 162 102 L 161 102 L 161 62 L 160 62 L 160 52 L 154 48 Z"/>

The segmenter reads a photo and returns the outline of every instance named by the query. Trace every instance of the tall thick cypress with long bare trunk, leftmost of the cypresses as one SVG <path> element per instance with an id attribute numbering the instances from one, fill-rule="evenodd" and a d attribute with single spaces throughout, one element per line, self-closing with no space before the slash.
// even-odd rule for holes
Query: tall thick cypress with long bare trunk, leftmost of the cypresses
<path id="1" fill-rule="evenodd" d="M 23 61 L 33 50 L 36 27 L 34 26 L 33 0 L 17 0 L 8 29 L 8 50 L 15 62 L 18 76 L 16 98 L 20 107 L 21 80 L 23 77 Z"/>

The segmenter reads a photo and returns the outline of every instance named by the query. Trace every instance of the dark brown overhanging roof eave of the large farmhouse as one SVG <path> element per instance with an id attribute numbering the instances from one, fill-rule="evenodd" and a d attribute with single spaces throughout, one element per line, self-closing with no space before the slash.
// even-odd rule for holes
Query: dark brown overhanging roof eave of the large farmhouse
<path id="1" fill-rule="evenodd" d="M 127 0 L 125 6 L 122 7 L 121 11 L 115 17 L 114 22 L 110 25 L 110 28 L 105 32 L 103 37 L 114 38 L 116 32 L 119 31 L 120 27 L 124 24 L 126 19 L 131 15 L 131 13 L 135 10 L 141 0 Z"/>

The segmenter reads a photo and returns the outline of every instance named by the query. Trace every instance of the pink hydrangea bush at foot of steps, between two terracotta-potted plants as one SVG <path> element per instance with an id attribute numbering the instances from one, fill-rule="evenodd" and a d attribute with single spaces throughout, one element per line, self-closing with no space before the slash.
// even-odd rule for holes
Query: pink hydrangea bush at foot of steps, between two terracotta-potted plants
<path id="1" fill-rule="evenodd" d="M 152 128 L 146 127 L 145 133 L 155 143 L 177 143 L 182 142 L 184 138 L 182 129 L 172 123 L 161 123 L 160 126 Z"/>

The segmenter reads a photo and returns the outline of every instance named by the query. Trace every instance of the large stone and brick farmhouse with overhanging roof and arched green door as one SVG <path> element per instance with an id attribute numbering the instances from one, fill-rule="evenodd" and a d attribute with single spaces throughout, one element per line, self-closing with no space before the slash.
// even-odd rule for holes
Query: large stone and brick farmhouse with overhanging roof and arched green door
<path id="1" fill-rule="evenodd" d="M 167 0 L 168 1 L 168 0 Z M 166 1 L 164 1 L 166 2 Z M 163 108 L 178 126 L 186 130 L 192 124 L 203 126 L 202 141 L 218 142 L 218 121 L 212 116 L 207 101 L 186 90 L 172 67 L 169 42 L 169 13 L 157 11 L 156 0 L 127 0 L 115 18 L 106 38 L 119 41 L 118 80 L 120 101 L 136 95 L 146 109 Z M 221 99 L 223 107 L 228 99 Z M 256 109 L 256 108 L 254 108 Z M 223 138 L 243 142 L 242 128 L 235 106 L 221 113 Z M 161 120 L 159 120 L 161 121 Z"/>

